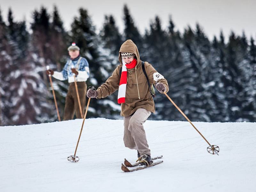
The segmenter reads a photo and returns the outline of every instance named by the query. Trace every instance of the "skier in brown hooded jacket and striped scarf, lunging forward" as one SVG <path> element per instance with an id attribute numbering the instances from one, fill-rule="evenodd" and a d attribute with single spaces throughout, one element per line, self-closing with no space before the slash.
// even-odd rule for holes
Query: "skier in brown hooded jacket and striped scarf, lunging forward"
<path id="1" fill-rule="evenodd" d="M 121 103 L 121 116 L 124 117 L 124 145 L 137 150 L 140 165 L 148 165 L 151 164 L 151 154 L 143 124 L 151 113 L 155 113 L 155 103 L 143 73 L 138 48 L 132 40 L 122 44 L 119 61 L 120 65 L 112 76 L 97 90 L 89 89 L 87 97 L 105 98 L 118 90 L 118 103 Z M 164 76 L 148 62 L 144 66 L 149 84 L 154 84 L 159 93 L 168 92 L 169 87 Z"/>

